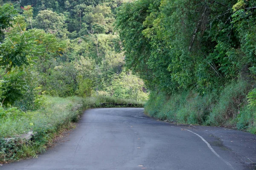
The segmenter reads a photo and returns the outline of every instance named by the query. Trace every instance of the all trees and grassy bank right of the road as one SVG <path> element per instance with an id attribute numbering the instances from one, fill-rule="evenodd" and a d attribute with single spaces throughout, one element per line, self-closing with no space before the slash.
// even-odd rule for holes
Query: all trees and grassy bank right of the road
<path id="1" fill-rule="evenodd" d="M 256 1 L 137 0 L 116 29 L 149 115 L 256 133 Z"/>

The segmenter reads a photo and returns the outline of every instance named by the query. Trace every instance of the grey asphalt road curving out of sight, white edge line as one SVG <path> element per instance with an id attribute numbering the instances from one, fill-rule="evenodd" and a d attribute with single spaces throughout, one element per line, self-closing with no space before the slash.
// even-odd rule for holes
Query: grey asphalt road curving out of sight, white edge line
<path id="1" fill-rule="evenodd" d="M 254 170 L 256 136 L 151 119 L 142 108 L 91 109 L 35 159 L 0 170 Z"/>

